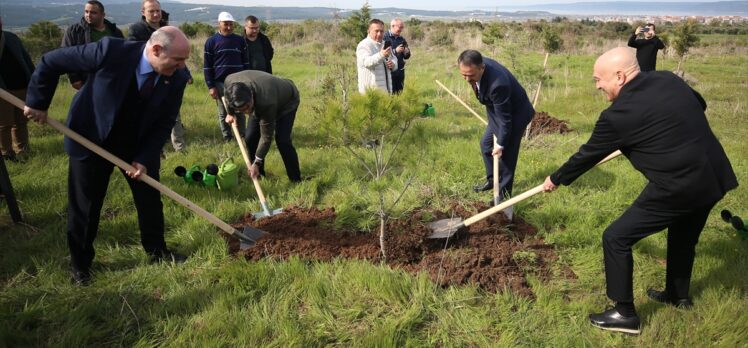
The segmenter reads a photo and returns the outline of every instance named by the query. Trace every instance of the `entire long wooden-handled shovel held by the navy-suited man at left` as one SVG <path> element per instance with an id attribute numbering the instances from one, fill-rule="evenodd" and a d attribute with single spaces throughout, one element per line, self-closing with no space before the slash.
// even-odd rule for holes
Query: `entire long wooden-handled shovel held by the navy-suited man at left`
<path id="1" fill-rule="evenodd" d="M 23 110 L 24 102 L 21 99 L 18 99 L 16 96 L 8 93 L 4 89 L 0 89 L 0 98 L 5 99 L 7 102 Z M 90 140 L 82 137 L 80 134 L 64 126 L 57 120 L 52 119 L 52 118 L 47 118 L 47 124 L 49 124 L 52 128 L 60 131 L 62 134 L 65 134 L 68 138 L 75 140 L 79 144 L 83 145 L 85 148 L 93 151 L 97 155 L 101 156 L 102 158 L 116 165 L 117 167 L 125 171 L 129 171 L 129 172 L 137 171 L 135 167 L 133 167 L 129 163 L 121 160 L 117 156 L 111 154 L 109 151 L 104 150 L 102 147 L 92 143 Z M 231 225 L 223 222 L 221 219 L 217 218 L 215 215 L 209 213 L 205 209 L 195 205 L 195 203 L 192 203 L 187 198 L 184 198 L 180 194 L 172 191 L 170 188 L 164 186 L 163 184 L 151 178 L 150 176 L 146 174 L 142 174 L 139 180 L 148 184 L 149 186 L 153 187 L 154 189 L 158 190 L 164 195 L 169 196 L 169 198 L 177 201 L 177 203 L 185 206 L 187 209 L 192 210 L 197 215 L 200 215 L 203 218 L 207 219 L 208 221 L 210 221 L 210 223 L 220 228 L 222 231 L 238 238 L 240 242 L 239 248 L 241 250 L 244 250 L 244 249 L 247 249 L 253 246 L 255 244 L 255 241 L 258 238 L 260 238 L 260 236 L 267 233 L 267 232 L 258 230 L 251 226 L 245 226 L 244 230 L 239 231 L 231 227 Z"/>

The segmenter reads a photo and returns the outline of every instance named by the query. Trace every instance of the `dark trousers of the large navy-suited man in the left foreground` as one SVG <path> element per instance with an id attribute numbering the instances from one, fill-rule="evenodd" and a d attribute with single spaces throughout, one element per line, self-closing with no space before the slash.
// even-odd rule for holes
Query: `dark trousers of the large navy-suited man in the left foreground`
<path id="1" fill-rule="evenodd" d="M 114 165 L 92 155 L 79 161 L 70 159 L 68 173 L 68 247 L 72 267 L 87 271 L 95 252 L 94 239 L 99 228 L 101 207 L 106 196 Z M 148 175 L 158 180 L 159 168 L 148 168 Z M 130 185 L 138 211 L 140 241 L 145 251 L 155 254 L 166 250 L 164 214 L 159 192 L 147 184 L 122 175 Z"/>

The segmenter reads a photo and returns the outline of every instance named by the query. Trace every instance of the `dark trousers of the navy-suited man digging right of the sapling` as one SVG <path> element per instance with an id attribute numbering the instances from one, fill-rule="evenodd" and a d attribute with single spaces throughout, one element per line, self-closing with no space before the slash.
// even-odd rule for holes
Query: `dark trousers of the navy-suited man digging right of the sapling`
<path id="1" fill-rule="evenodd" d="M 522 132 L 514 133 L 507 139 L 499 158 L 499 198 L 501 200 L 511 196 L 512 186 L 514 185 L 514 170 L 517 169 Z M 480 150 L 483 155 L 483 165 L 486 167 L 486 179 L 491 182 L 493 180 L 493 156 L 491 155 L 493 152 L 493 133 L 488 127 L 486 127 L 486 131 L 480 139 Z"/>

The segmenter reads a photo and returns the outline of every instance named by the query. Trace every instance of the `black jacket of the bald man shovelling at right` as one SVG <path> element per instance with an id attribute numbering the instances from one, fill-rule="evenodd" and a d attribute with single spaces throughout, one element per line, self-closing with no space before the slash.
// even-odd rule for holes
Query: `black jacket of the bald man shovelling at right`
<path id="1" fill-rule="evenodd" d="M 714 204 L 738 181 L 704 110 L 701 95 L 673 73 L 639 73 L 621 88 L 587 143 L 551 174 L 551 181 L 569 185 L 620 149 L 649 180 L 634 205 L 688 212 Z"/>

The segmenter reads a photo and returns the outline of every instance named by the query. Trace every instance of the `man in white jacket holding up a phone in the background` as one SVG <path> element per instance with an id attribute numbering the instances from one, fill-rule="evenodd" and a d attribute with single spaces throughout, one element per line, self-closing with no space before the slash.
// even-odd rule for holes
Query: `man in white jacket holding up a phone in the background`
<path id="1" fill-rule="evenodd" d="M 379 88 L 392 93 L 392 71 L 397 70 L 397 59 L 392 56 L 392 44 L 384 41 L 384 22 L 379 19 L 369 21 L 366 38 L 356 47 L 358 67 L 358 92 Z M 389 43 L 389 44 L 388 44 Z"/>

